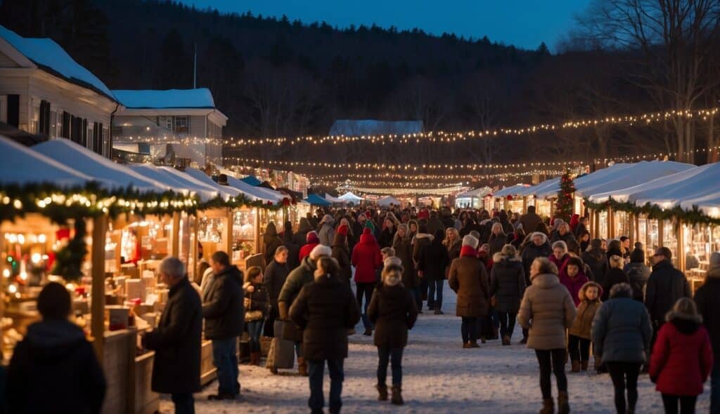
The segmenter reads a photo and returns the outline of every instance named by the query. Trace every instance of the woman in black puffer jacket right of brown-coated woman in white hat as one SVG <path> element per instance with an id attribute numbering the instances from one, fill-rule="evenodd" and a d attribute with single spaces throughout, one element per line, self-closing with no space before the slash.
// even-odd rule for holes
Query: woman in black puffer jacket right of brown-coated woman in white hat
<path id="1" fill-rule="evenodd" d="M 503 345 L 510 345 L 520 301 L 525 294 L 525 271 L 518 252 L 512 244 L 492 257 L 490 270 L 490 295 L 495 297 L 495 311 L 500 318 L 500 338 Z"/>

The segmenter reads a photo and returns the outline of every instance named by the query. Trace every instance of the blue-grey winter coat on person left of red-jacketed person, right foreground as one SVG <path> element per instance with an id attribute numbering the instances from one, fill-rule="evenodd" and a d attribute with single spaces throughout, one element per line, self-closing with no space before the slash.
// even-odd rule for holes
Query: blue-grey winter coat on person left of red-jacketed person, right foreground
<path id="1" fill-rule="evenodd" d="M 615 297 L 593 319 L 593 350 L 602 362 L 648 361 L 652 326 L 647 310 L 633 298 Z"/>

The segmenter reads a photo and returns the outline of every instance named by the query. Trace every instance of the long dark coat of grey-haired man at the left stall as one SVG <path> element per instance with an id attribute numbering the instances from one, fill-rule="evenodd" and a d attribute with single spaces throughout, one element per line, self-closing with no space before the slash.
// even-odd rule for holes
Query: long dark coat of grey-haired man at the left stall
<path id="1" fill-rule="evenodd" d="M 145 346 L 155 351 L 153 391 L 200 390 L 202 304 L 185 279 L 168 293 L 158 327 L 145 334 Z"/>

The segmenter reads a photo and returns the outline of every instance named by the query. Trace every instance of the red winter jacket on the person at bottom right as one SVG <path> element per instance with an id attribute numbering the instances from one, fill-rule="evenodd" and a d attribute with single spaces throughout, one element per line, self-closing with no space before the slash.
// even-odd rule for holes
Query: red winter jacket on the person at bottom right
<path id="1" fill-rule="evenodd" d="M 657 333 L 650 378 L 664 394 L 700 395 L 713 366 L 708 331 L 697 320 L 670 315 Z"/>

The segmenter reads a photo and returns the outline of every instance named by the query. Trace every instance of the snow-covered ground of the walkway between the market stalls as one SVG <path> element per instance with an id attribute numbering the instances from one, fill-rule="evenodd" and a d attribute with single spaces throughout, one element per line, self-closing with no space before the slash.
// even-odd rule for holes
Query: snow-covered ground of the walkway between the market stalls
<path id="1" fill-rule="evenodd" d="M 445 288 L 445 315 L 424 313 L 410 331 L 410 344 L 403 359 L 402 395 L 405 405 L 397 407 L 377 401 L 375 372 L 377 349 L 372 338 L 358 334 L 350 337 L 349 357 L 345 362 L 343 413 L 536 413 L 541 395 L 535 354 L 516 344 L 488 341 L 480 349 L 462 349 L 460 318 L 454 316 L 455 294 Z M 592 366 L 592 363 L 590 364 Z M 570 369 L 570 365 L 567 365 Z M 388 369 L 390 384 L 390 369 Z M 570 408 L 574 413 L 615 413 L 613 387 L 608 374 L 568 373 Z M 325 403 L 329 378 L 325 369 Z M 196 397 L 199 414 L 210 413 L 307 413 L 307 378 L 286 371 L 272 375 L 260 367 L 240 366 L 243 400 L 209 402 L 215 383 Z M 553 395 L 557 395 L 554 388 Z M 647 375 L 639 380 L 638 413 L 662 413 L 660 394 Z M 697 412 L 707 413 L 709 383 L 698 398 Z M 172 403 L 163 396 L 163 413 L 172 413 Z"/>

